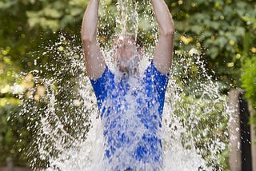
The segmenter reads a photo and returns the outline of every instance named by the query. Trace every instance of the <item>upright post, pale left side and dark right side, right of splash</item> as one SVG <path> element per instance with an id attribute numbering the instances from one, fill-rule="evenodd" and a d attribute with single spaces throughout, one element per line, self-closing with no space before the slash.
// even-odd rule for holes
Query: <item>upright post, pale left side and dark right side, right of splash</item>
<path id="1" fill-rule="evenodd" d="M 254 170 L 250 111 L 243 95 L 242 89 L 233 89 L 229 93 L 230 171 Z"/>

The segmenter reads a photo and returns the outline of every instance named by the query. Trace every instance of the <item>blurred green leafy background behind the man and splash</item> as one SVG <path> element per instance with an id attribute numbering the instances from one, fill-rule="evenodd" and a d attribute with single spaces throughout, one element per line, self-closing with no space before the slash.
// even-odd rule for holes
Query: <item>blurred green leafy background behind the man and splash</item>
<path id="1" fill-rule="evenodd" d="M 82 16 L 89 0 L 1 0 L 0 1 L 0 166 L 11 157 L 14 165 L 26 166 L 37 153 L 27 155 L 34 132 L 26 115 L 20 115 L 21 99 L 36 86 L 34 101 L 46 89 L 34 83 L 32 70 L 42 70 L 45 77 L 54 74 L 42 65 L 60 65 L 53 56 L 42 55 L 46 46 L 65 35 L 72 46 L 81 46 Z M 139 1 L 138 2 L 142 2 Z M 114 33 L 116 0 L 102 0 L 99 42 L 106 46 Z M 219 82 L 220 93 L 245 89 L 245 100 L 256 109 L 256 2 L 254 0 L 166 0 L 174 18 L 174 58 L 202 55 L 207 72 Z M 150 6 L 145 6 L 149 8 Z M 138 13 L 145 10 L 138 8 Z M 103 14 L 104 11 L 109 11 Z M 154 40 L 149 23 L 139 22 L 138 39 Z M 105 44 L 106 43 L 106 44 Z M 58 50 L 63 51 L 62 47 Z M 78 50 L 79 51 L 79 50 Z M 65 52 L 65 51 L 64 51 Z M 68 60 L 62 65 L 69 65 Z M 192 69 L 191 77 L 198 74 Z M 70 79 L 72 75 L 64 74 Z M 26 94 L 27 95 L 27 94 Z M 38 105 L 38 104 L 35 104 Z M 31 117 L 31 116 L 30 116 Z M 254 113 L 248 122 L 256 125 Z M 255 128 L 255 127 L 254 127 Z M 255 145 L 255 142 L 254 142 Z M 223 154 L 228 156 L 228 154 Z M 228 160 L 223 161 L 228 169 Z"/>

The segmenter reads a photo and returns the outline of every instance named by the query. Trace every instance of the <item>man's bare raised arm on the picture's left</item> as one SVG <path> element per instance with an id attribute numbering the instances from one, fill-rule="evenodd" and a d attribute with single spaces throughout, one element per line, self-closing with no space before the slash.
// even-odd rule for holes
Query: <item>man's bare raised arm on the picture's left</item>
<path id="1" fill-rule="evenodd" d="M 87 75 L 100 78 L 106 64 L 97 42 L 99 0 L 90 0 L 82 20 L 82 47 L 86 59 Z"/>

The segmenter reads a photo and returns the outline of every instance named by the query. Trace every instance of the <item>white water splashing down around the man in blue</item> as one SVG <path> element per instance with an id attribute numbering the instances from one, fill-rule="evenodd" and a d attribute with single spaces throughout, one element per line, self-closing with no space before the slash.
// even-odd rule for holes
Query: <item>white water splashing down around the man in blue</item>
<path id="1" fill-rule="evenodd" d="M 138 13 L 130 15 L 129 10 L 137 11 L 138 3 L 131 2 L 118 1 L 117 34 L 138 34 Z M 148 2 L 146 6 L 150 6 Z M 150 10 L 148 16 L 143 15 L 150 22 L 154 20 Z M 155 23 L 150 26 L 156 34 Z M 152 57 L 152 47 L 148 46 L 150 43 L 146 42 L 141 72 Z M 105 46 L 102 49 L 107 65 L 114 70 L 113 52 Z M 82 47 L 74 46 L 72 39 L 60 35 L 58 42 L 47 46 L 40 58 L 53 58 L 54 62 L 24 74 L 34 82 L 34 88 L 24 93 L 21 112 L 30 118 L 29 129 L 35 133 L 36 148 L 29 155 L 38 153 L 38 157 L 31 165 L 34 168 L 43 165 L 46 170 L 106 170 L 103 125 L 86 77 Z M 34 65 L 39 65 L 37 60 Z M 174 53 L 159 135 L 163 170 L 222 170 L 220 157 L 228 136 L 223 127 L 228 117 L 226 98 L 218 92 L 218 83 L 207 74 L 202 56 L 196 50 L 190 53 L 190 58 Z"/>

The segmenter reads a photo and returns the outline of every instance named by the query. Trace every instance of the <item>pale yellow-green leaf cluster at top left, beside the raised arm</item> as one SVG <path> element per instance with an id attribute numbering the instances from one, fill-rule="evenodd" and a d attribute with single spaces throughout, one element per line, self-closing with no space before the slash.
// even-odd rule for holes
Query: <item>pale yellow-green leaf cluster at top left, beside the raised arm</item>
<path id="1" fill-rule="evenodd" d="M 27 22 L 31 28 L 36 26 L 42 29 L 58 31 L 66 26 L 74 25 L 76 20 L 81 20 L 86 7 L 85 1 L 33 1 L 31 5 L 38 6 L 26 11 Z"/>

